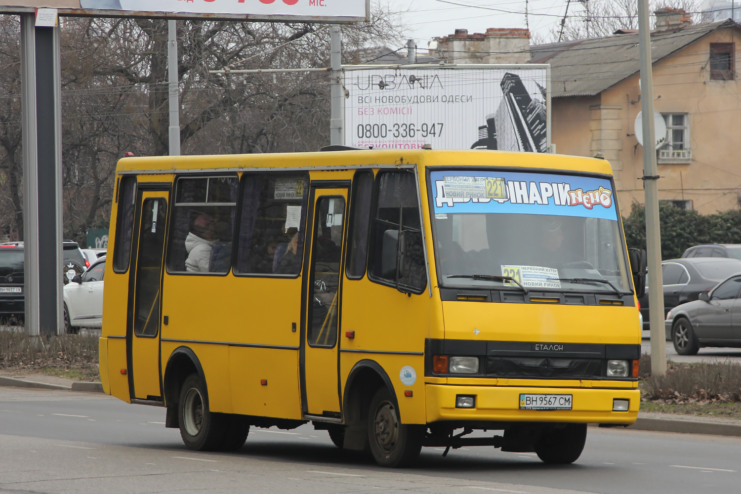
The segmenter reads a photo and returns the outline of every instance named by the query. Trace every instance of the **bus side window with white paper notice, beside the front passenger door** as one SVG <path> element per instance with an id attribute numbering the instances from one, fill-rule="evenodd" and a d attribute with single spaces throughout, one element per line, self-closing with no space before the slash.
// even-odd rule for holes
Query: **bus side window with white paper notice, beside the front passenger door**
<path id="1" fill-rule="evenodd" d="M 245 173 L 234 273 L 301 273 L 308 173 Z"/>

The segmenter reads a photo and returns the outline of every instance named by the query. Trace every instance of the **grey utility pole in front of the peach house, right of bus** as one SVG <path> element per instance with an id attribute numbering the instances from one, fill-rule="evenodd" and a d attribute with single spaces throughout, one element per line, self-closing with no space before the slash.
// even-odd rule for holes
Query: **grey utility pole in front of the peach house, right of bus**
<path id="1" fill-rule="evenodd" d="M 651 69 L 651 28 L 648 0 L 638 0 L 638 36 L 641 63 L 641 117 L 643 124 L 643 189 L 645 190 L 646 250 L 648 251 L 648 318 L 651 324 L 651 374 L 666 373 L 664 282 L 661 273 L 659 227 L 659 172 L 654 134 L 654 77 Z"/>

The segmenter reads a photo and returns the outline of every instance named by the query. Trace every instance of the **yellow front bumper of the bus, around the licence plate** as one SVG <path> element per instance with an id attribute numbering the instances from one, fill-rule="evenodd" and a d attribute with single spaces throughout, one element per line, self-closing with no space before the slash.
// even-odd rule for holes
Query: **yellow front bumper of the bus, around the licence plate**
<path id="1" fill-rule="evenodd" d="M 572 410 L 520 410 L 520 393 L 573 395 Z M 475 395 L 476 408 L 456 408 L 456 395 Z M 571 387 L 451 386 L 425 384 L 428 424 L 436 421 L 576 422 L 633 424 L 640 391 Z M 628 399 L 627 412 L 613 412 L 613 399 Z"/>

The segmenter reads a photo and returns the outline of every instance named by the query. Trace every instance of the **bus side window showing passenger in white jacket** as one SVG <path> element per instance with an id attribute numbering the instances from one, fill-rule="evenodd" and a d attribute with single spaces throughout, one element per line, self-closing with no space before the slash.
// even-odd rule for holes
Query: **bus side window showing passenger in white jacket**
<path id="1" fill-rule="evenodd" d="M 169 273 L 229 273 L 237 190 L 236 176 L 178 178 Z"/>

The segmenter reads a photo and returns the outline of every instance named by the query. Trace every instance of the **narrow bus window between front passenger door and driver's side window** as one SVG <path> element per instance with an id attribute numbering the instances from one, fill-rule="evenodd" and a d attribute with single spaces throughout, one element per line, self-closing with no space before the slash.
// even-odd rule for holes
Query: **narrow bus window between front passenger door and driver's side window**
<path id="1" fill-rule="evenodd" d="M 350 229 L 348 235 L 348 278 L 360 279 L 365 275 L 368 259 L 368 228 L 371 226 L 371 196 L 373 172 L 359 170 L 353 177 L 350 196 Z"/>

